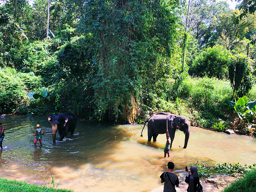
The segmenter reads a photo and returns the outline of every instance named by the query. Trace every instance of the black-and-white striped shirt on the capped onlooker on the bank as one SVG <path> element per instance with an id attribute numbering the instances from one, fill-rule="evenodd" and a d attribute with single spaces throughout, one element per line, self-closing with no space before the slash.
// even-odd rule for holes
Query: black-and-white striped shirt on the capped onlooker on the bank
<path id="1" fill-rule="evenodd" d="M 176 192 L 175 185 L 180 183 L 176 174 L 163 172 L 160 178 L 164 181 L 164 192 Z"/>

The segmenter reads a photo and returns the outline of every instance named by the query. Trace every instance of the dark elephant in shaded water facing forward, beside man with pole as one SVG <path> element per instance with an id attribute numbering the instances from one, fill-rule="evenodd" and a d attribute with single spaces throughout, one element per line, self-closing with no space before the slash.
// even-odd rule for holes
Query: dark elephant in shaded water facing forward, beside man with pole
<path id="1" fill-rule="evenodd" d="M 48 121 L 52 124 L 52 142 L 56 142 L 56 132 L 58 130 L 60 138 L 58 141 L 62 141 L 64 137 L 70 132 L 74 134 L 76 129 L 76 116 L 71 112 L 65 112 L 61 114 L 55 114 L 48 117 Z"/>

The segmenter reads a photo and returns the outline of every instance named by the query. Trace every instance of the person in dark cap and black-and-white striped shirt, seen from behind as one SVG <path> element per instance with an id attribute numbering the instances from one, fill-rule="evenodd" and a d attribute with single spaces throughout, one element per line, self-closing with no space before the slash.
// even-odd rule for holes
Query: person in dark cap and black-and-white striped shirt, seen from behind
<path id="1" fill-rule="evenodd" d="M 178 176 L 173 173 L 174 163 L 168 162 L 168 172 L 163 172 L 160 176 L 161 183 L 164 182 L 164 192 L 176 192 L 175 186 L 179 186 Z"/>

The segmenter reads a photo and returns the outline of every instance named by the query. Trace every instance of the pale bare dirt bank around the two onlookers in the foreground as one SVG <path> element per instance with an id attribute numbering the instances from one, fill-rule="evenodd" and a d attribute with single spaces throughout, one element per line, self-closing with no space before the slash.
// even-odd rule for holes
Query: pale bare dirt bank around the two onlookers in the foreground
<path id="1" fill-rule="evenodd" d="M 200 182 L 203 186 L 204 192 L 220 192 L 230 183 L 234 182 L 237 178 L 227 175 L 216 175 L 214 178 L 208 178 L 206 181 L 200 178 Z M 177 192 L 186 192 L 188 184 L 185 183 L 185 178 L 179 176 L 180 185 L 176 187 Z M 164 190 L 164 185 L 151 190 L 150 192 L 162 192 Z"/>

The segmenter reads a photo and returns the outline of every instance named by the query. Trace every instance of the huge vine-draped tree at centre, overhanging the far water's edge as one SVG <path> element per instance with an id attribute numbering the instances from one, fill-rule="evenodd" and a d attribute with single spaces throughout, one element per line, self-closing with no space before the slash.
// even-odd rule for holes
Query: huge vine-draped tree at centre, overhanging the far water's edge
<path id="1" fill-rule="evenodd" d="M 145 92 L 151 88 L 154 91 L 154 84 L 170 75 L 178 19 L 171 10 L 179 3 L 77 2 L 83 4 L 78 10 L 82 14 L 79 31 L 92 34 L 96 45 L 92 48 L 92 83 L 95 115 L 99 119 L 115 120 L 122 109 L 136 109 L 132 97 L 138 104 L 142 87 Z"/>

